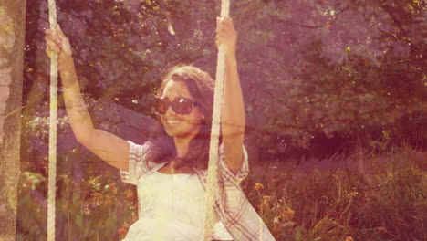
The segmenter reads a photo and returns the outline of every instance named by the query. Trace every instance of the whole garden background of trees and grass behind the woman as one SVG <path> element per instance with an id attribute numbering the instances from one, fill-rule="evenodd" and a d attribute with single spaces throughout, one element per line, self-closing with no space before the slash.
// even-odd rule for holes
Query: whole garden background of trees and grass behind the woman
<path id="1" fill-rule="evenodd" d="M 231 2 L 251 165 L 242 186 L 276 239 L 426 240 L 426 1 Z M 214 74 L 219 6 L 57 0 L 95 125 L 146 141 L 167 68 Z M 16 240 L 45 240 L 47 1 L 27 1 L 25 23 Z M 61 89 L 57 140 L 57 240 L 120 240 L 138 218 L 136 189 L 74 139 Z"/>

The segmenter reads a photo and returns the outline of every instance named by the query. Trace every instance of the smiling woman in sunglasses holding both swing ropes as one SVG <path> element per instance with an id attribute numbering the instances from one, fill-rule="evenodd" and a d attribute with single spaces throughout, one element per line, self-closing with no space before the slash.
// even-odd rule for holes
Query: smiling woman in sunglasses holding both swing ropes
<path id="1" fill-rule="evenodd" d="M 218 164 L 218 179 L 224 185 L 215 205 L 219 222 L 212 238 L 274 240 L 239 186 L 248 174 L 248 163 L 236 36 L 231 18 L 217 19 L 216 44 L 224 45 L 226 59 Z M 157 93 L 161 134 L 139 145 L 94 128 L 80 94 L 68 38 L 57 27 L 46 31 L 46 41 L 47 52 L 58 54 L 68 119 L 76 139 L 119 168 L 124 182 L 137 185 L 139 220 L 130 226 L 125 240 L 203 240 L 214 80 L 193 66 L 171 68 Z"/>

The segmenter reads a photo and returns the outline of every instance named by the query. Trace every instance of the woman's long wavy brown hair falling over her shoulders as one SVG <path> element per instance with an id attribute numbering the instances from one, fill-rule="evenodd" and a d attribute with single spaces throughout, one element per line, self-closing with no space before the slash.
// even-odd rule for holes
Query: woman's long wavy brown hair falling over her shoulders
<path id="1" fill-rule="evenodd" d="M 185 83 L 204 115 L 200 131 L 190 142 L 188 152 L 184 157 L 185 160 L 182 162 L 182 168 L 188 168 L 190 173 L 194 173 L 194 168 L 206 170 L 209 162 L 214 80 L 200 68 L 189 65 L 175 66 L 164 75 L 156 95 L 161 96 L 166 84 L 172 80 Z M 177 158 L 173 138 L 166 134 L 161 121 L 158 121 L 156 131 L 153 132 L 149 141 L 151 148 L 147 153 L 147 161 L 161 163 Z"/>

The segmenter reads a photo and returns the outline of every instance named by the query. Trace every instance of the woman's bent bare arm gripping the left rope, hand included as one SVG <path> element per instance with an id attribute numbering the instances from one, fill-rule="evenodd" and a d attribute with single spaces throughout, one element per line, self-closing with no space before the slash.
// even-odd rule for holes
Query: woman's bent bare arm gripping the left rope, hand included
<path id="1" fill-rule="evenodd" d="M 109 132 L 97 130 L 92 124 L 85 101 L 80 93 L 68 37 L 57 26 L 57 29 L 46 31 L 46 42 L 47 54 L 52 51 L 57 52 L 68 120 L 76 139 L 105 162 L 123 171 L 128 171 L 128 142 Z"/>

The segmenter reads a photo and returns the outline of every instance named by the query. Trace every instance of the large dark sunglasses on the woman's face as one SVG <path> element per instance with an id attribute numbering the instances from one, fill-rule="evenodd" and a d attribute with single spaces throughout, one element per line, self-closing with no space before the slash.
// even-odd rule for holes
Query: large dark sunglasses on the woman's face
<path id="1" fill-rule="evenodd" d="M 184 97 L 175 97 L 172 101 L 164 97 L 156 97 L 156 110 L 159 114 L 164 115 L 172 107 L 172 110 L 179 115 L 188 115 L 192 112 L 196 102 Z"/>

